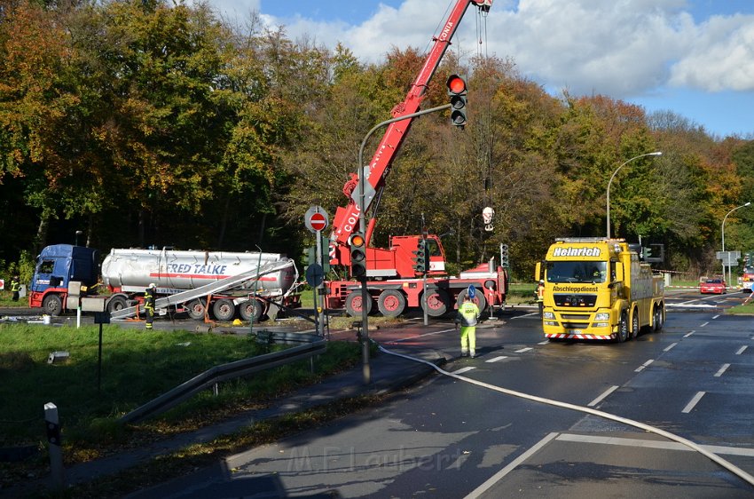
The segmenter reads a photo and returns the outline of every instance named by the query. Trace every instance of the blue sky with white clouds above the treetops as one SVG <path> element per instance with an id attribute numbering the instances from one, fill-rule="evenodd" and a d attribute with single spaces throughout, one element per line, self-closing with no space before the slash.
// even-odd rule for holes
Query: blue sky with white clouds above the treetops
<path id="1" fill-rule="evenodd" d="M 340 42 L 362 62 L 427 49 L 455 2 L 208 0 L 227 19 L 259 12 L 293 40 Z M 754 0 L 493 0 L 486 17 L 476 11 L 453 38 L 462 58 L 512 59 L 554 96 L 607 95 L 754 139 Z"/>

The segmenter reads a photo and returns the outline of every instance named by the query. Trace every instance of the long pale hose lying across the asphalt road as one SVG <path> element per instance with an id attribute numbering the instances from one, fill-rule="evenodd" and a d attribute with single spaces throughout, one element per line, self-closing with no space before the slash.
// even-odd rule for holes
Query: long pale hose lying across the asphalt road
<path id="1" fill-rule="evenodd" d="M 488 383 L 484 383 L 482 381 L 477 381 L 477 380 L 472 379 L 470 377 L 460 376 L 460 375 L 454 374 L 452 372 L 448 372 L 448 371 L 444 370 L 443 368 L 440 368 L 439 366 L 436 366 L 435 364 L 433 364 L 432 362 L 430 362 L 428 360 L 417 359 L 416 357 L 412 357 L 410 355 L 405 355 L 403 353 L 391 352 L 388 349 L 384 348 L 380 344 L 377 344 L 377 346 L 378 346 L 378 348 L 380 349 L 381 352 L 388 353 L 389 355 L 396 355 L 397 357 L 403 357 L 404 359 L 407 359 L 407 360 L 413 360 L 413 361 L 416 361 L 416 362 L 421 362 L 423 364 L 427 364 L 429 367 L 434 368 L 441 375 L 454 377 L 454 378 L 458 379 L 459 381 L 464 381 L 466 383 L 475 384 L 477 386 L 481 386 L 483 388 L 487 388 L 488 390 L 492 390 L 494 392 L 505 393 L 507 395 L 513 395 L 514 397 L 519 397 L 520 399 L 532 400 L 532 401 L 535 401 L 535 402 L 544 403 L 544 404 L 551 405 L 551 406 L 558 407 L 558 408 L 567 408 L 567 409 L 575 410 L 575 411 L 578 411 L 578 412 L 584 412 L 586 414 L 591 414 L 593 416 L 599 416 L 599 417 L 603 417 L 605 419 L 616 421 L 617 423 L 622 423 L 622 424 L 628 424 L 630 426 L 635 426 L 636 428 L 639 428 L 640 430 L 644 430 L 645 432 L 655 433 L 656 435 L 660 435 L 661 437 L 664 437 L 666 439 L 676 441 L 679 444 L 682 444 L 682 445 L 686 446 L 687 448 L 691 448 L 692 450 L 695 450 L 699 454 L 704 455 L 705 457 L 709 458 L 714 463 L 718 463 L 723 468 L 727 469 L 728 471 L 731 471 L 732 473 L 734 473 L 735 475 L 737 475 L 739 478 L 747 481 L 751 486 L 754 486 L 754 477 L 752 477 L 746 471 L 743 471 L 738 466 L 734 465 L 734 463 L 730 463 L 729 461 L 723 459 L 719 455 L 714 454 L 714 453 L 710 452 L 709 450 L 707 450 L 707 449 L 705 449 L 705 448 L 703 448 L 703 447 L 695 444 L 691 440 L 687 440 L 687 439 L 684 439 L 683 437 L 679 437 L 678 435 L 676 435 L 674 433 L 665 432 L 664 430 L 661 430 L 660 428 L 656 428 L 655 426 L 650 426 L 648 424 L 643 424 L 643 423 L 640 423 L 639 421 L 634 421 L 632 419 L 628 419 L 628 418 L 625 418 L 625 417 L 615 416 L 615 415 L 609 414 L 607 412 L 602 412 L 602 411 L 597 410 L 597 409 L 585 408 L 583 406 L 577 406 L 575 404 L 569 404 L 568 402 L 561 402 L 561 401 L 558 401 L 558 400 L 545 399 L 543 397 L 538 397 L 536 395 L 530 395 L 528 393 L 523 393 L 523 392 L 516 392 L 514 390 L 509 390 L 507 388 L 502 388 L 502 387 L 496 386 L 494 384 L 488 384 Z"/>

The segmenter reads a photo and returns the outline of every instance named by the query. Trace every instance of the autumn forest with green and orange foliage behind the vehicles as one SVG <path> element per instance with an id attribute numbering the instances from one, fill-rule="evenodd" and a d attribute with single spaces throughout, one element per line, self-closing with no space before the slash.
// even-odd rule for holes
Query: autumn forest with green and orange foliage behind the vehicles
<path id="1" fill-rule="evenodd" d="M 256 249 L 298 256 L 312 204 L 334 214 L 365 134 L 391 117 L 423 65 L 393 48 L 378 63 L 342 44 L 292 40 L 251 14 L 206 4 L 50 3 L 0 10 L 0 267 L 44 244 Z M 554 236 L 662 242 L 664 265 L 712 270 L 720 222 L 754 201 L 754 146 L 711 137 L 672 112 L 603 95 L 551 95 L 514 58 L 449 51 L 424 108 L 468 75 L 469 123 L 414 120 L 373 214 L 373 242 L 443 236 L 449 268 L 511 249 L 528 280 Z M 381 132 L 365 142 L 369 162 Z M 492 230 L 482 210 L 495 210 Z M 728 219 L 727 246 L 754 249 L 754 210 Z M 84 241 L 85 240 L 85 241 Z M 728 241 L 730 241 L 728 243 Z"/>

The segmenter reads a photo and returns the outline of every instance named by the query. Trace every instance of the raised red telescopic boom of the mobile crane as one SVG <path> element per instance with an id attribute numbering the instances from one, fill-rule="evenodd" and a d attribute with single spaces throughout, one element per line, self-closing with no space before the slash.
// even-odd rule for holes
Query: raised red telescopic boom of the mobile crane
<path id="1" fill-rule="evenodd" d="M 451 44 L 452 36 L 455 34 L 460 20 L 463 19 L 470 4 L 475 4 L 481 11 L 488 12 L 492 5 L 492 0 L 456 1 L 452 12 L 448 15 L 447 20 L 445 20 L 440 35 L 435 37 L 432 49 L 424 61 L 424 66 L 421 67 L 419 75 L 412 83 L 411 89 L 408 91 L 404 101 L 393 107 L 391 115 L 394 118 L 412 115 L 419 111 L 429 81 L 435 75 L 435 71 L 440 65 L 440 60 L 443 59 L 445 51 L 447 51 L 448 46 Z M 365 210 L 369 209 L 374 196 L 384 186 L 390 165 L 395 159 L 397 151 L 403 143 L 412 122 L 413 118 L 407 117 L 405 120 L 390 123 L 381 139 L 380 145 L 374 152 L 372 161 L 363 167 L 363 175 L 365 176 Z M 361 168 L 362 166 L 359 165 L 359 167 Z M 335 212 L 333 234 L 330 236 L 331 243 L 334 244 L 336 252 L 334 261 L 339 260 L 340 249 L 347 247 L 350 235 L 357 229 L 360 204 L 360 200 L 357 199 L 359 197 L 356 189 L 357 178 L 357 175 L 353 174 L 346 185 L 343 186 L 343 193 L 349 196 L 350 199 L 345 207 L 339 207 Z M 362 227 L 362 230 L 364 229 L 365 227 Z"/>

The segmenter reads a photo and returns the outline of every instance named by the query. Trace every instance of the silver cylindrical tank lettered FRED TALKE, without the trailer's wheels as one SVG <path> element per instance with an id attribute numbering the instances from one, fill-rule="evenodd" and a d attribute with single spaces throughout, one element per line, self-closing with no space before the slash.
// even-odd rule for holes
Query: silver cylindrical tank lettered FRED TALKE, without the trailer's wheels
<path id="1" fill-rule="evenodd" d="M 280 253 L 177 251 L 172 249 L 112 249 L 102 263 L 102 279 L 114 291 L 143 292 L 155 283 L 161 294 L 196 289 L 213 281 L 254 271 L 286 259 Z M 285 294 L 296 280 L 295 268 L 287 267 L 259 277 L 259 285 L 246 281 L 239 289 L 263 289 Z"/>

